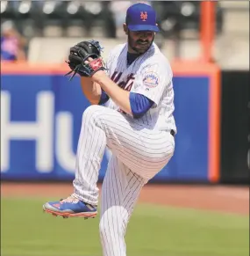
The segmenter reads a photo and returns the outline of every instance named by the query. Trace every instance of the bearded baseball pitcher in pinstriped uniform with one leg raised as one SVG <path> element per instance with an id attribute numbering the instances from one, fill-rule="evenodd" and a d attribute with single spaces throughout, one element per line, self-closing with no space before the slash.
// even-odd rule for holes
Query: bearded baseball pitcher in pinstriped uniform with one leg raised
<path id="1" fill-rule="evenodd" d="M 69 73 L 81 76 L 91 106 L 82 115 L 74 191 L 43 205 L 54 216 L 95 217 L 100 165 L 106 147 L 111 150 L 99 225 L 104 256 L 126 255 L 125 230 L 139 192 L 175 150 L 173 74 L 154 43 L 156 13 L 133 4 L 123 26 L 127 42 L 111 51 L 105 65 L 95 40 L 70 48 Z"/>

